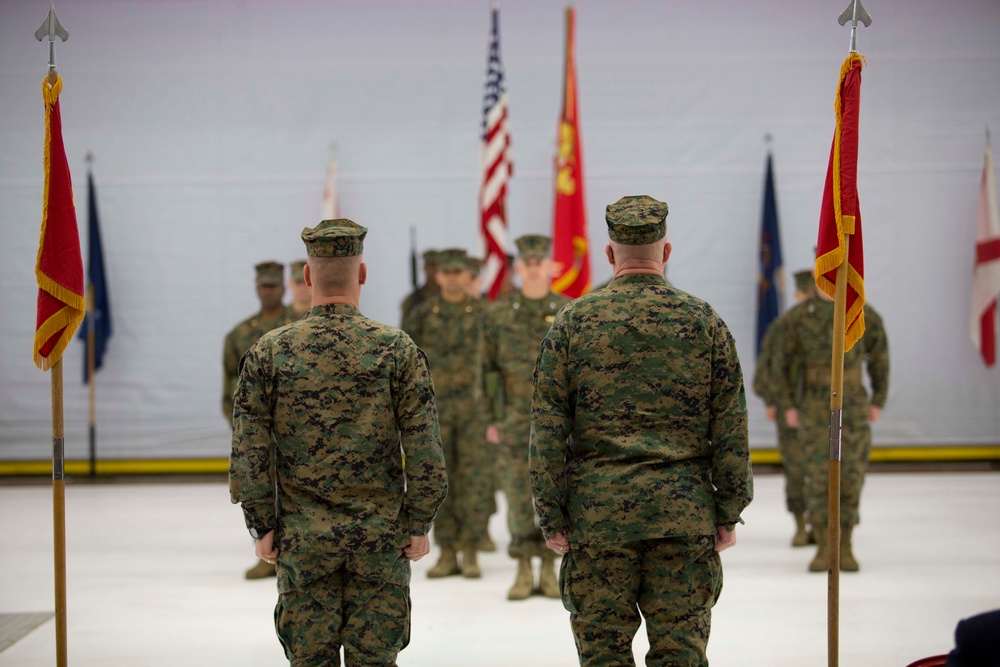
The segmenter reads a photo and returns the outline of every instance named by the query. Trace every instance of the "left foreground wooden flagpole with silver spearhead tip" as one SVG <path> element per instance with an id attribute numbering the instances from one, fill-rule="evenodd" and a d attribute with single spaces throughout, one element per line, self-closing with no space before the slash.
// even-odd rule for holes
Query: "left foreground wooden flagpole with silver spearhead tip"
<path id="1" fill-rule="evenodd" d="M 49 72 L 46 80 L 54 86 L 59 80 L 56 72 L 56 37 L 62 41 L 69 39 L 69 33 L 56 18 L 55 0 L 49 3 L 49 13 L 42 25 L 35 31 L 35 38 L 42 41 L 49 38 Z M 48 156 L 48 153 L 46 153 Z M 46 166 L 46 168 L 48 168 Z M 48 175 L 46 176 L 48 179 Z M 46 190 L 48 180 L 46 180 Z M 74 223 L 75 224 L 75 223 Z M 75 327 L 74 327 L 75 328 Z M 62 356 L 61 353 L 59 355 Z M 50 369 L 52 383 L 52 533 L 55 578 L 56 615 L 56 665 L 67 666 L 66 642 L 66 480 L 65 445 L 63 428 L 63 372 L 62 359 L 56 359 Z"/>

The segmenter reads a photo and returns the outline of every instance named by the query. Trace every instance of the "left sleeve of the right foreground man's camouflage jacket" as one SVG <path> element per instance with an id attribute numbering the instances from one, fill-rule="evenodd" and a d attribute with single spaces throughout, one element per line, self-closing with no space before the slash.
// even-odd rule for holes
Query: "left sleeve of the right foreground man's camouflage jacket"
<path id="1" fill-rule="evenodd" d="M 535 362 L 528 468 L 542 532 L 567 533 L 566 457 L 572 423 L 568 344 L 563 313 L 552 323 Z"/>

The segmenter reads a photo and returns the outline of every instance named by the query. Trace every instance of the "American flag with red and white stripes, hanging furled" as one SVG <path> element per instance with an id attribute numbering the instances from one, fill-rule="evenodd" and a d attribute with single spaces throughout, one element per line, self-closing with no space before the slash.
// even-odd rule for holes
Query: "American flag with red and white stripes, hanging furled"
<path id="1" fill-rule="evenodd" d="M 479 192 L 480 232 L 483 235 L 483 284 L 495 299 L 507 272 L 507 183 L 514 171 L 507 127 L 507 89 L 500 63 L 500 18 L 494 5 L 490 51 L 483 93 L 483 182 Z"/>

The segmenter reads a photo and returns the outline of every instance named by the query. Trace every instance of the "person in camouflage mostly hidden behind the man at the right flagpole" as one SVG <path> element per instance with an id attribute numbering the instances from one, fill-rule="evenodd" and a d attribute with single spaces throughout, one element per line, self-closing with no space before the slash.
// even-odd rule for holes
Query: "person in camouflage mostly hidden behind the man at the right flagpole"
<path id="1" fill-rule="evenodd" d="M 812 271 L 799 271 L 795 274 L 795 301 L 803 303 L 806 299 L 816 297 L 816 284 L 813 282 Z M 804 547 L 810 543 L 809 528 L 806 524 L 805 500 L 805 465 L 802 444 L 798 440 L 798 429 L 788 426 L 785 421 L 786 405 L 777 405 L 774 379 L 775 351 L 782 344 L 784 315 L 771 322 L 761 342 L 760 354 L 757 355 L 757 367 L 753 374 L 753 391 L 764 399 L 767 405 L 767 418 L 778 425 L 778 451 L 781 453 L 781 469 L 785 475 L 785 506 L 795 517 L 795 534 L 792 536 L 793 547 Z M 797 366 L 791 369 L 788 382 L 795 389 L 796 395 L 801 391 L 802 372 Z"/>

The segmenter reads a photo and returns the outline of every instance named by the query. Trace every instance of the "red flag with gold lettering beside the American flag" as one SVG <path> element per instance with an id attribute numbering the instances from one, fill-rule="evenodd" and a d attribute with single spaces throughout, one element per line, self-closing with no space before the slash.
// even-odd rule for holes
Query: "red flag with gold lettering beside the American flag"
<path id="1" fill-rule="evenodd" d="M 575 22 L 573 8 L 567 7 L 563 110 L 559 120 L 556 205 L 552 229 L 552 258 L 557 265 L 552 291 L 571 299 L 590 289 L 587 211 L 583 200 L 583 152 L 576 96 Z"/>

